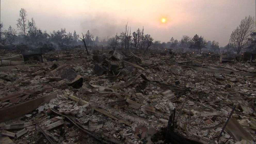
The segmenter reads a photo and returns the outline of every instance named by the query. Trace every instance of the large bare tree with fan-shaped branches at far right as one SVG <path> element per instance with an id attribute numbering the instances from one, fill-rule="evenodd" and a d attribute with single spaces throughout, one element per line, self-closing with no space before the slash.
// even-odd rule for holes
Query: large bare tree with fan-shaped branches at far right
<path id="1" fill-rule="evenodd" d="M 232 32 L 230 35 L 230 45 L 237 54 L 248 45 L 248 38 L 254 31 L 255 18 L 249 15 L 242 19 L 240 25 Z"/>

